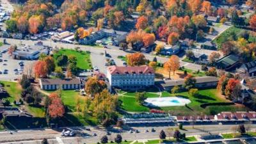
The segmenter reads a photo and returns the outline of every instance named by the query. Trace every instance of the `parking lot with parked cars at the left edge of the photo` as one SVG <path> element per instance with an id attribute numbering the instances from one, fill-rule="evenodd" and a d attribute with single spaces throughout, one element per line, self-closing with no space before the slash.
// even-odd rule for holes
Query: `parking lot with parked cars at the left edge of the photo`
<path id="1" fill-rule="evenodd" d="M 33 61 L 13 60 L 8 52 L 2 53 L 0 57 L 0 79 L 13 81 L 20 78 L 25 65 L 32 65 Z"/>

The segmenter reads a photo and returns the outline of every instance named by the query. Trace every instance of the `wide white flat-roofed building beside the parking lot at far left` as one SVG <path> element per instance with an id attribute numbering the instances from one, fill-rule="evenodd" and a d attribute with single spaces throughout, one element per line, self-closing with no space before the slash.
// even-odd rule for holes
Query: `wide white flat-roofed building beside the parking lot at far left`
<path id="1" fill-rule="evenodd" d="M 40 54 L 49 54 L 49 47 L 45 45 L 24 45 L 18 46 L 12 57 L 17 60 L 36 60 Z"/>

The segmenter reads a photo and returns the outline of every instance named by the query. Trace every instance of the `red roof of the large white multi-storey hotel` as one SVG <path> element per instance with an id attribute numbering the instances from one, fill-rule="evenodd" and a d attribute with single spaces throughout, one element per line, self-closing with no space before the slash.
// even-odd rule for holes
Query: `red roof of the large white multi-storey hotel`
<path id="1" fill-rule="evenodd" d="M 107 68 L 110 74 L 154 74 L 154 69 L 148 66 L 140 67 L 117 67 L 115 65 Z"/>

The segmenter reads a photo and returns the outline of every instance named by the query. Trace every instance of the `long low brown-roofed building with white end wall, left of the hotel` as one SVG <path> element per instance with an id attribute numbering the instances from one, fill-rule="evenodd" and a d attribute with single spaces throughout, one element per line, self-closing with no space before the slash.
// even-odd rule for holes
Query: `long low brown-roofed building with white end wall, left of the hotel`
<path id="1" fill-rule="evenodd" d="M 81 88 L 81 81 L 78 78 L 74 79 L 40 79 L 41 90 L 75 90 Z"/>

